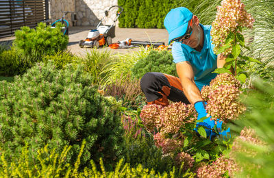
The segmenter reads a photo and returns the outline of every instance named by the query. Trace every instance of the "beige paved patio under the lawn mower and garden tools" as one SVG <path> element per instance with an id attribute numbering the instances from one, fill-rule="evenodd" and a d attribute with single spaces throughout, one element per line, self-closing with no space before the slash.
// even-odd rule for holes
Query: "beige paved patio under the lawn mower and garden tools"
<path id="1" fill-rule="evenodd" d="M 80 48 L 79 40 L 84 40 L 88 36 L 88 31 L 95 29 L 95 27 L 70 27 L 69 28 L 69 44 L 68 49 L 76 55 L 85 55 L 90 48 Z M 164 42 L 167 45 L 169 34 L 166 29 L 128 29 L 128 28 L 115 28 L 116 37 L 112 39 L 112 42 L 118 42 L 127 38 L 138 41 L 151 41 L 151 42 Z M 0 44 L 11 44 L 14 40 L 14 36 L 7 38 L 0 38 Z M 110 49 L 111 53 L 131 53 L 132 51 L 138 51 L 139 48 L 132 49 Z M 103 51 L 105 49 L 98 49 Z"/>

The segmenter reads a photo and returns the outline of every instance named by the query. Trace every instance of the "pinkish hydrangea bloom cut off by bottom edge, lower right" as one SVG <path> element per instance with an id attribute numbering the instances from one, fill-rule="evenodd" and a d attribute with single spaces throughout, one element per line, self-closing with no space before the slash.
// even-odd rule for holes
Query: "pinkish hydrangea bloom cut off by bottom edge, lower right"
<path id="1" fill-rule="evenodd" d="M 234 160 L 227 159 L 225 157 L 219 157 L 212 164 L 204 165 L 198 168 L 197 176 L 198 177 L 225 177 L 225 174 L 228 173 L 229 177 L 233 177 L 234 173 L 238 170 Z"/>

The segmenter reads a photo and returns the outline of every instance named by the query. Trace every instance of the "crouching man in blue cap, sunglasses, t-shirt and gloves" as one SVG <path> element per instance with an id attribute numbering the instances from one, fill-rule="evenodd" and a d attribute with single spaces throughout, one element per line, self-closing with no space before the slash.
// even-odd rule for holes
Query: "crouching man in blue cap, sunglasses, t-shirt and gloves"
<path id="1" fill-rule="evenodd" d="M 173 62 L 176 63 L 178 77 L 164 73 L 146 73 L 141 81 L 142 92 L 148 104 L 169 105 L 168 99 L 195 105 L 198 119 L 207 116 L 206 102 L 201 98 L 201 88 L 209 85 L 216 77 L 212 73 L 225 64 L 225 58 L 213 53 L 214 45 L 210 36 L 210 25 L 201 25 L 199 18 L 187 8 L 175 8 L 164 18 L 164 26 L 169 32 L 169 44 L 173 42 Z M 206 118 L 197 125 L 207 127 L 207 136 L 214 136 L 213 127 L 217 126 L 225 136 L 230 129 L 221 131 L 221 121 Z"/>

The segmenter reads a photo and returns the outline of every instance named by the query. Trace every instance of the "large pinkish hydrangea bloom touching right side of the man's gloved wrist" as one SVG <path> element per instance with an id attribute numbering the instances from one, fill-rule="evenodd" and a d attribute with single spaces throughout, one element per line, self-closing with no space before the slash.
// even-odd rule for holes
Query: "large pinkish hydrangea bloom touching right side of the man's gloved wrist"
<path id="1" fill-rule="evenodd" d="M 221 73 L 210 82 L 210 86 L 203 86 L 201 97 L 208 102 L 206 110 L 212 119 L 236 120 L 245 111 L 244 105 L 238 101 L 239 88 L 240 82 L 229 73 Z"/>

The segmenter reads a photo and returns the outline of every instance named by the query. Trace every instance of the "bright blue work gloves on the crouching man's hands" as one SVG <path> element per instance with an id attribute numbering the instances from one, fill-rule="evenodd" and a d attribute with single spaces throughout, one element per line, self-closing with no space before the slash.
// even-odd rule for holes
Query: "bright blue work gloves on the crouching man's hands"
<path id="1" fill-rule="evenodd" d="M 207 105 L 206 101 L 197 101 L 194 104 L 195 110 L 198 113 L 198 120 L 208 115 L 208 113 L 206 112 L 206 105 Z M 199 126 L 203 126 L 206 130 L 206 136 L 210 137 L 210 140 L 211 140 L 212 136 L 216 136 L 216 133 L 213 131 L 215 120 L 210 120 L 210 119 L 211 119 L 211 116 L 203 120 L 203 122 L 197 123 L 195 131 L 197 131 L 197 128 Z M 220 121 L 218 119 L 216 122 L 216 128 L 219 132 L 220 138 L 228 138 L 227 136 L 228 135 L 230 136 L 230 128 L 228 128 L 225 131 L 222 131 L 222 124 L 223 124 L 223 121 Z"/>

